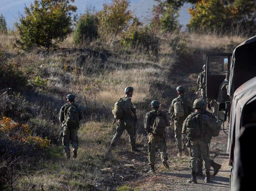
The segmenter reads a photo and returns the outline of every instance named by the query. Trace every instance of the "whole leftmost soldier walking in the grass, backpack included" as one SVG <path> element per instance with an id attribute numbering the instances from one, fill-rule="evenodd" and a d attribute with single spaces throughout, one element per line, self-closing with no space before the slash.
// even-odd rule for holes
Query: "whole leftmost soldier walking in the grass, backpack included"
<path id="1" fill-rule="evenodd" d="M 79 129 L 79 121 L 83 119 L 83 112 L 74 101 L 75 95 L 68 94 L 66 96 L 67 103 L 61 107 L 59 113 L 59 120 L 62 123 L 63 128 L 62 144 L 67 159 L 70 158 L 70 141 L 72 145 L 73 159 L 77 156 L 77 130 Z"/>

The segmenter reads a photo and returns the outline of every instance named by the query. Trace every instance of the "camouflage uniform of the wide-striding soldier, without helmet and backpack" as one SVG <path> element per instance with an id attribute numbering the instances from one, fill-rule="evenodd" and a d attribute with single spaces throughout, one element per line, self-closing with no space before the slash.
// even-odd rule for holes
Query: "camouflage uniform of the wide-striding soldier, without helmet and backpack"
<path id="1" fill-rule="evenodd" d="M 132 149 L 133 149 L 136 147 L 135 138 L 133 135 L 134 118 L 131 117 L 133 104 L 130 97 L 124 97 L 123 100 L 125 101 L 125 104 L 124 104 L 125 117 L 122 120 L 117 120 L 117 129 L 114 137 L 111 140 L 111 145 L 114 147 L 116 145 L 116 142 L 122 136 L 124 130 L 126 130 L 127 133 L 129 134 L 130 145 L 132 146 Z"/>

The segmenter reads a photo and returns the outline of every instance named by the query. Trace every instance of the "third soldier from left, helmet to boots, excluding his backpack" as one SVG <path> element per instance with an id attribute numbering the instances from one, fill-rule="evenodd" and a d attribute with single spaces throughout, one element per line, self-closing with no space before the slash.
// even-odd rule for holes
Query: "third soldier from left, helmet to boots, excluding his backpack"
<path id="1" fill-rule="evenodd" d="M 158 145 L 158 151 L 161 154 L 161 161 L 166 168 L 169 168 L 167 163 L 168 157 L 166 153 L 166 143 L 163 135 L 153 134 L 153 125 L 155 123 L 155 118 L 157 112 L 161 113 L 161 116 L 164 118 L 165 125 L 170 126 L 170 122 L 167 118 L 167 115 L 164 111 L 159 111 L 159 101 L 154 100 L 151 102 L 151 111 L 146 114 L 145 117 L 145 130 L 148 133 L 148 164 L 150 165 L 149 172 L 155 172 L 155 149 Z"/>

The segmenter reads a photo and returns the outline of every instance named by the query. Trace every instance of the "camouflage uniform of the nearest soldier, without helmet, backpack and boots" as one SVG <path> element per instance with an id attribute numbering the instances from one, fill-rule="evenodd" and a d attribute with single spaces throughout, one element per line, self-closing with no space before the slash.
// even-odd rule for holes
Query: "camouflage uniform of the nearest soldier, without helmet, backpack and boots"
<path id="1" fill-rule="evenodd" d="M 195 114 L 195 113 L 194 113 Z M 193 115 L 193 114 L 191 114 Z M 191 117 L 191 115 L 188 116 Z M 187 118 L 187 119 L 188 119 Z M 201 113 L 198 115 L 198 120 L 200 121 L 200 130 L 201 130 L 201 135 L 199 138 L 196 138 L 195 140 L 189 140 L 188 146 L 190 147 L 190 170 L 192 172 L 196 172 L 197 169 L 197 160 L 198 156 L 201 155 L 202 159 L 204 160 L 204 171 L 205 173 L 210 172 L 210 153 L 209 153 L 209 142 L 211 138 L 206 134 L 206 129 L 214 129 L 216 122 L 211 120 L 210 117 L 207 115 Z M 182 132 L 183 134 L 186 134 L 187 126 L 186 122 L 187 119 L 183 123 L 183 129 Z"/>

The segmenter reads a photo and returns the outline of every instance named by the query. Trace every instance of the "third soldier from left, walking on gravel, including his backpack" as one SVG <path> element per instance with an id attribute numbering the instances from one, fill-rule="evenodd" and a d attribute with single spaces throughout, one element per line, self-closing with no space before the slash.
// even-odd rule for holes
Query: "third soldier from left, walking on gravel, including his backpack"
<path id="1" fill-rule="evenodd" d="M 151 102 L 151 111 L 145 117 L 145 130 L 148 133 L 148 164 L 150 165 L 149 172 L 155 172 L 155 149 L 158 145 L 158 151 L 161 154 L 161 161 L 166 168 L 169 168 L 167 163 L 166 143 L 164 139 L 164 129 L 170 126 L 170 122 L 165 112 L 159 110 L 159 101 Z"/>

